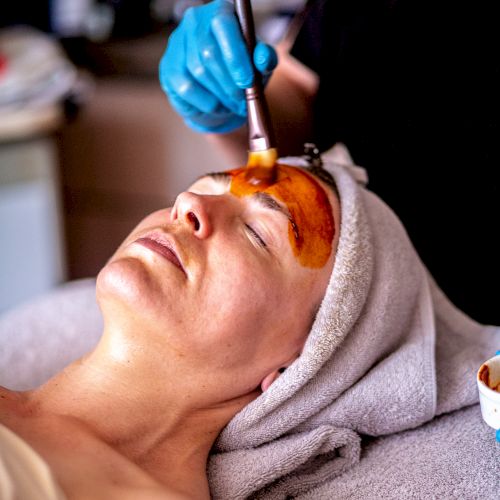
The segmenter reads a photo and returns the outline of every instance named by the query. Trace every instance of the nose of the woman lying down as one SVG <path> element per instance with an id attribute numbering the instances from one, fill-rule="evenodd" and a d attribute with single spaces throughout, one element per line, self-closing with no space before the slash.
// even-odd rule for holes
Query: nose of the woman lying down
<path id="1" fill-rule="evenodd" d="M 208 238 L 213 229 L 208 198 L 188 191 L 181 193 L 172 208 L 172 220 L 188 224 L 197 238 Z"/>

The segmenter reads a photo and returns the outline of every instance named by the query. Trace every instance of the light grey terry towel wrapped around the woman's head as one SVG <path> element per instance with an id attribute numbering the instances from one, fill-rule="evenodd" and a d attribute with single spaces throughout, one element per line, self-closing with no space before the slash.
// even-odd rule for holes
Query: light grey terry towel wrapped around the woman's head
<path id="1" fill-rule="evenodd" d="M 299 495 L 358 462 L 361 434 L 476 403 L 475 373 L 500 342 L 498 328 L 439 290 L 347 150 L 337 145 L 323 163 L 341 205 L 330 282 L 301 356 L 219 436 L 208 468 L 214 498 Z"/>

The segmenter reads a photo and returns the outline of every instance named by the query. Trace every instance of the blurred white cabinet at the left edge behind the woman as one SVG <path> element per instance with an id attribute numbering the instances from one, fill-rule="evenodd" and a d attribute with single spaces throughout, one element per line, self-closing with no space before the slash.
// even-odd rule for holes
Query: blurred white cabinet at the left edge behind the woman
<path id="1" fill-rule="evenodd" d="M 0 143 L 0 313 L 65 279 L 57 150 Z"/>

